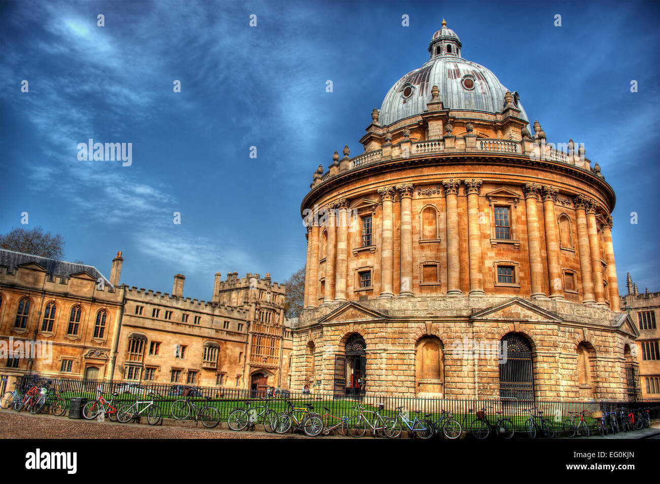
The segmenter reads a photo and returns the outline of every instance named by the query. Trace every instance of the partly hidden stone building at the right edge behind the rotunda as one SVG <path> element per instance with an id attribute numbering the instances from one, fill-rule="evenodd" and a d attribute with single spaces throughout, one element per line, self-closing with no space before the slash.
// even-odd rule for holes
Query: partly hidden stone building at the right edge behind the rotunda
<path id="1" fill-rule="evenodd" d="M 649 292 L 649 288 L 639 292 L 630 273 L 626 288 L 628 294 L 621 296 L 621 308 L 628 311 L 640 332 L 636 348 L 632 348 L 636 354 L 631 356 L 639 363 L 631 371 L 639 374 L 642 400 L 660 400 L 660 331 L 655 322 L 660 317 L 660 292 Z"/>

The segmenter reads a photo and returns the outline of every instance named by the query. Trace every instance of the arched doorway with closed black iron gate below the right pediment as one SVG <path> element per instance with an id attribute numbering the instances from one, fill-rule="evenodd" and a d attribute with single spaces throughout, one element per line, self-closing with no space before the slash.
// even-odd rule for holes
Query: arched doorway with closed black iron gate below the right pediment
<path id="1" fill-rule="evenodd" d="M 502 346 L 502 354 L 506 355 L 506 360 L 499 365 L 500 398 L 534 400 L 532 349 L 527 338 L 520 333 L 509 333 L 502 338 Z"/>

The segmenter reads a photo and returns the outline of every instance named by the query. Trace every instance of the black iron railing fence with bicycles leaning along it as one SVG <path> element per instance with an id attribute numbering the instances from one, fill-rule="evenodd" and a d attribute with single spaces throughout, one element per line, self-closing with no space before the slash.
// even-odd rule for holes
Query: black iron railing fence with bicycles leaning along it
<path id="1" fill-rule="evenodd" d="M 245 408 L 248 402 L 251 406 L 268 405 L 272 410 L 283 412 L 288 408 L 288 402 L 297 408 L 303 408 L 305 404 L 312 404 L 314 411 L 323 415 L 327 408 L 329 412 L 337 417 L 353 416 L 360 412 L 358 406 L 366 410 L 378 410 L 383 405 L 381 414 L 383 416 L 395 416 L 397 408 L 401 407 L 403 412 L 412 415 L 420 412 L 424 417 L 430 414 L 432 419 L 437 419 L 442 410 L 453 414 L 465 431 L 469 431 L 470 424 L 475 419 L 475 412 L 484 409 L 488 419 L 493 422 L 500 415 L 508 417 L 513 421 L 516 430 L 525 429 L 525 421 L 531 412 L 543 412 L 543 418 L 552 421 L 556 429 L 562 429 L 570 412 L 585 412 L 587 423 L 593 427 L 595 421 L 592 412 L 613 412 L 621 408 L 630 410 L 649 409 L 651 419 L 660 419 L 660 402 L 627 402 L 627 401 L 604 401 L 604 402 L 579 402 L 568 400 L 502 400 L 502 399 L 449 399 L 449 398 L 415 398 L 413 396 L 381 396 L 362 395 L 355 398 L 333 392 L 306 394 L 300 392 L 254 391 L 242 389 L 227 389 L 224 387 L 196 387 L 193 385 L 170 384 L 170 383 L 136 383 L 130 381 L 110 382 L 103 380 L 68 379 L 59 377 L 44 377 L 40 375 L 22 375 L 18 379 L 21 389 L 28 389 L 31 385 L 49 384 L 51 388 L 59 390 L 61 395 L 70 402 L 71 398 L 83 397 L 93 400 L 98 391 L 104 394 L 106 399 L 110 398 L 112 392 L 118 392 L 117 402 L 133 402 L 136 398 L 141 400 L 154 400 L 163 417 L 171 417 L 170 407 L 172 402 L 183 398 L 184 394 L 190 393 L 193 400 L 203 401 L 208 397 L 209 403 L 220 412 L 220 418 L 226 420 L 230 412 L 235 408 Z M 192 390 L 189 390 L 192 389 Z M 497 412 L 502 412 L 498 414 Z"/>

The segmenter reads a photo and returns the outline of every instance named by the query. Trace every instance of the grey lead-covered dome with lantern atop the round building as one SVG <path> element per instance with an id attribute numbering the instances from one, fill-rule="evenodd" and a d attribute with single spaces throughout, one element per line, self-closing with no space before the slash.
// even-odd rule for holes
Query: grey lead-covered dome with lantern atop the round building
<path id="1" fill-rule="evenodd" d="M 445 109 L 501 113 L 508 89 L 490 70 L 463 59 L 461 47 L 458 36 L 443 20 L 428 46 L 430 61 L 403 76 L 385 95 L 380 124 L 388 126 L 426 111 L 433 86 L 438 86 Z M 513 104 L 520 110 L 520 117 L 529 122 L 516 92 Z"/>

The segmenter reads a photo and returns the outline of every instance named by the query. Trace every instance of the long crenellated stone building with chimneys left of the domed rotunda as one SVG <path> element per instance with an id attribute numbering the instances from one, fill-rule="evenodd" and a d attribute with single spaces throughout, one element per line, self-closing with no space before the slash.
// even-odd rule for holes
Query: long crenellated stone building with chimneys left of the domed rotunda
<path id="1" fill-rule="evenodd" d="M 53 342 L 52 361 L 2 358 L 0 373 L 288 389 L 285 286 L 267 274 L 215 275 L 211 302 L 119 284 L 96 268 L 0 250 L 0 338 Z"/>

